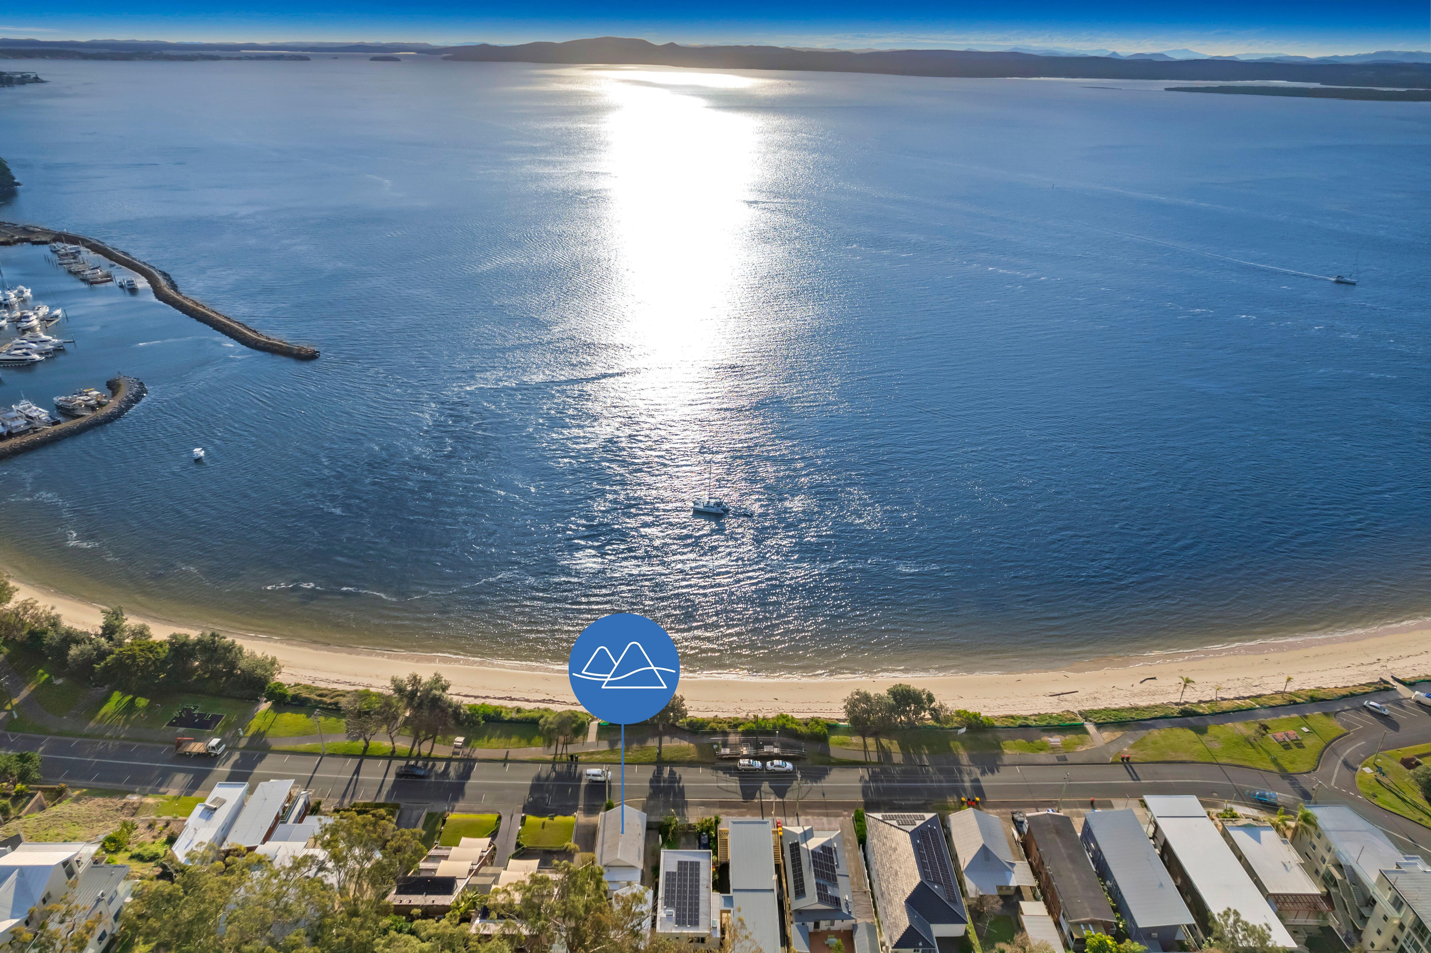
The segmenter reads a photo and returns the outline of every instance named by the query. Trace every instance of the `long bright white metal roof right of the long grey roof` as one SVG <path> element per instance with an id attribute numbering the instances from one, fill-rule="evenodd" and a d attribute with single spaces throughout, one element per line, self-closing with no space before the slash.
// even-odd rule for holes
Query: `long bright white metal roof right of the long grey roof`
<path id="1" fill-rule="evenodd" d="M 1178 863 L 1188 874 L 1191 887 L 1202 897 L 1208 910 L 1221 913 L 1234 909 L 1248 923 L 1265 926 L 1272 933 L 1272 946 L 1295 947 L 1296 942 L 1272 913 L 1252 877 L 1242 869 L 1232 849 L 1224 843 L 1218 829 L 1208 820 L 1208 811 L 1191 794 L 1148 796 L 1148 813 L 1158 821 Z M 1196 808 L 1196 814 L 1193 814 Z"/>

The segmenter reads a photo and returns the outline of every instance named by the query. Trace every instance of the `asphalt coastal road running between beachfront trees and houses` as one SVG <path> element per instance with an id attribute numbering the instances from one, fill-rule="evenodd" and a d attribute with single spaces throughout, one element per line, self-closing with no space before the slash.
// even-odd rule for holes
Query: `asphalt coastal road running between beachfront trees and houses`
<path id="1" fill-rule="evenodd" d="M 797 774 L 748 774 L 714 764 L 628 766 L 627 800 L 648 814 L 718 811 L 796 821 L 801 814 L 836 814 L 920 807 L 946 798 L 983 798 L 986 806 L 1122 806 L 1145 794 L 1196 794 L 1246 801 L 1271 790 L 1288 803 L 1347 803 L 1388 830 L 1398 846 L 1431 857 L 1431 830 L 1384 811 L 1357 791 L 1361 763 L 1379 748 L 1431 743 L 1431 713 L 1391 701 L 1391 717 L 1357 704 L 1338 713 L 1348 734 L 1328 746 L 1307 774 L 1278 774 L 1202 763 L 1032 764 L 1016 757 L 953 766 L 803 766 Z M 199 794 L 225 780 L 293 778 L 326 804 L 399 801 L 429 810 L 585 813 L 601 810 L 605 786 L 584 783 L 590 764 L 531 761 L 435 761 L 429 780 L 398 780 L 401 758 L 325 757 L 242 748 L 218 760 L 176 757 L 167 747 L 130 741 L 6 734 L 10 750 L 39 751 L 50 781 L 166 794 Z M 615 766 L 610 796 L 620 797 Z"/>

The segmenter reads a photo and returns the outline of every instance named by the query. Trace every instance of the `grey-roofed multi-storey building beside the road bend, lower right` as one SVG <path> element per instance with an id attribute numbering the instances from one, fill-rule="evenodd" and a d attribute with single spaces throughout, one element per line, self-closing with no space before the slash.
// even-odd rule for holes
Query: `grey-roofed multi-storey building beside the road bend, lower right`
<path id="1" fill-rule="evenodd" d="M 1354 944 L 1377 906 L 1377 876 L 1395 870 L 1402 854 L 1381 829 L 1345 804 L 1308 804 L 1312 823 L 1301 823 L 1292 847 L 1307 861 L 1307 871 L 1327 887 L 1332 901 L 1331 922 L 1347 944 Z"/>

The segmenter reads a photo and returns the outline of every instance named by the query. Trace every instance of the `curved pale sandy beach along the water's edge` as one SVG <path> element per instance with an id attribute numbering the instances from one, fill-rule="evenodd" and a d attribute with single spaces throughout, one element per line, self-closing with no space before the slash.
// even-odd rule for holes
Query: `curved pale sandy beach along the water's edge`
<path id="1" fill-rule="evenodd" d="M 66 621 L 96 628 L 102 607 L 44 587 L 11 580 L 17 600 L 53 605 Z M 132 615 L 159 637 L 197 631 L 163 620 Z M 477 658 L 366 651 L 302 641 L 228 632 L 246 647 L 283 663 L 289 683 L 342 688 L 384 687 L 395 674 L 441 671 L 455 694 L 472 701 L 519 705 L 575 707 L 565 671 L 497 668 Z M 1282 688 L 1352 685 L 1391 674 L 1431 674 L 1431 620 L 1337 637 L 1309 637 L 1234 648 L 1191 650 L 1178 654 L 1110 658 L 1058 671 L 997 675 L 946 675 L 907 680 L 760 680 L 681 678 L 680 693 L 691 714 L 839 715 L 844 697 L 856 688 L 880 691 L 894 681 L 929 688 L 954 708 L 985 714 L 1065 711 L 1175 701 L 1189 677 L 1185 700 L 1265 694 Z"/>

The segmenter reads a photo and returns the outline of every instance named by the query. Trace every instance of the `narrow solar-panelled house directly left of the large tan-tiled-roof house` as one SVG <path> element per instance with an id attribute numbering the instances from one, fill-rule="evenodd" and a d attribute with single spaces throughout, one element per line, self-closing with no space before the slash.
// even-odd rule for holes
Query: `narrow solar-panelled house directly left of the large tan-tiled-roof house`
<path id="1" fill-rule="evenodd" d="M 794 953 L 810 953 L 811 930 L 853 930 L 854 896 L 840 831 L 784 827 L 780 851 Z"/>

